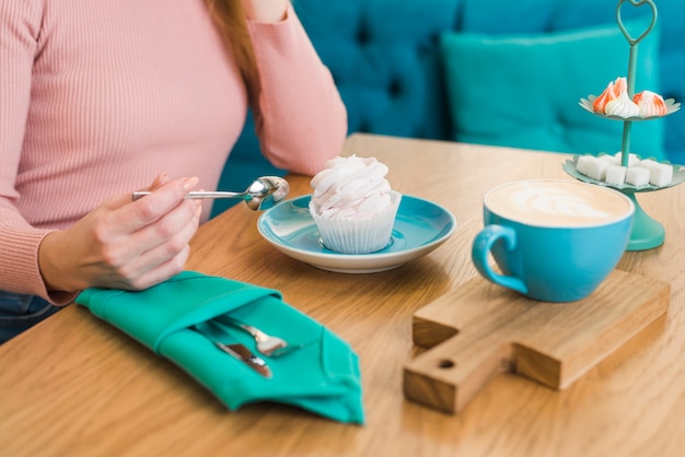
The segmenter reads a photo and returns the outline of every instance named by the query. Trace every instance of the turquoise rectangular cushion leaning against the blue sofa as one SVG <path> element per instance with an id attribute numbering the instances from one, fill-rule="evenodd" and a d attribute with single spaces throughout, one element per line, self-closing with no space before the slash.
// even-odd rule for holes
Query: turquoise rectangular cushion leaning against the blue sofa
<path id="1" fill-rule="evenodd" d="M 650 17 L 626 22 L 638 36 Z M 441 51 L 455 141 L 568 153 L 616 152 L 624 124 L 581 97 L 627 75 L 629 45 L 615 23 L 533 35 L 445 33 Z M 636 92 L 659 92 L 659 30 L 638 46 Z M 665 159 L 663 121 L 632 122 L 631 151 Z"/>

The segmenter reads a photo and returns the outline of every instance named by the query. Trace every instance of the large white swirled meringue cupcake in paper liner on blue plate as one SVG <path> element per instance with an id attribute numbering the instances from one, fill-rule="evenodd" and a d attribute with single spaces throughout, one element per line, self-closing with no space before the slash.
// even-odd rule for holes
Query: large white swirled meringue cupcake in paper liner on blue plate
<path id="1" fill-rule="evenodd" d="M 326 248 L 370 254 L 387 246 L 402 200 L 387 172 L 375 157 L 338 156 L 312 178 L 309 210 Z"/>

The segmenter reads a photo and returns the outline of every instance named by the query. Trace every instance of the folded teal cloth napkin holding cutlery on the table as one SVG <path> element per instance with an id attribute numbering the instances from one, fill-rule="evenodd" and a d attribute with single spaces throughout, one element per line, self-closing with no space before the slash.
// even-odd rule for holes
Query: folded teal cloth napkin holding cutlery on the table
<path id="1" fill-rule="evenodd" d="M 76 302 L 167 358 L 230 410 L 256 401 L 293 405 L 340 422 L 363 423 L 359 360 L 330 330 L 283 303 L 280 292 L 184 271 L 141 292 L 88 289 Z M 245 330 L 214 325 L 228 315 L 297 349 L 266 356 Z M 262 358 L 265 377 L 218 349 L 242 343 Z"/>

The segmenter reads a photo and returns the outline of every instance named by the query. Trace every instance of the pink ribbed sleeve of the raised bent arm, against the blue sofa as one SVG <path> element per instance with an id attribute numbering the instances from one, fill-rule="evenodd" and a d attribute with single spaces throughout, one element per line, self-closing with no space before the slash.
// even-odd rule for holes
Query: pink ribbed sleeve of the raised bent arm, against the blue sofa
<path id="1" fill-rule="evenodd" d="M 276 166 L 313 175 L 338 155 L 347 110 L 292 7 L 276 24 L 249 24 L 259 70 L 254 107 L 263 153 Z"/>

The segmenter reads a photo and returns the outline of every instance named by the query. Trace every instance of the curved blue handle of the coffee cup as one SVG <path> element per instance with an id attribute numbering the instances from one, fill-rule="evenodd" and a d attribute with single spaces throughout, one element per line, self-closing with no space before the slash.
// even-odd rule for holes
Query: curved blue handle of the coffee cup
<path id="1" fill-rule="evenodd" d="M 476 266 L 478 272 L 488 281 L 507 289 L 512 289 L 522 294 L 527 294 L 529 288 L 521 279 L 498 274 L 492 270 L 490 263 L 488 262 L 488 254 L 492 249 L 495 242 L 500 238 L 504 241 L 504 247 L 507 250 L 511 250 L 516 246 L 516 233 L 513 230 L 497 224 L 486 225 L 474 239 L 471 253 L 474 265 Z"/>

